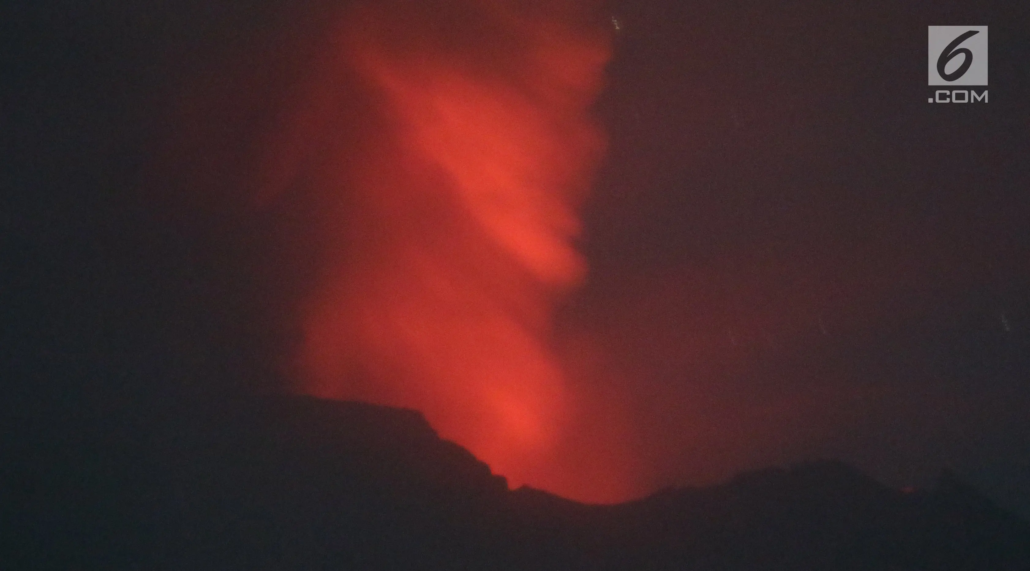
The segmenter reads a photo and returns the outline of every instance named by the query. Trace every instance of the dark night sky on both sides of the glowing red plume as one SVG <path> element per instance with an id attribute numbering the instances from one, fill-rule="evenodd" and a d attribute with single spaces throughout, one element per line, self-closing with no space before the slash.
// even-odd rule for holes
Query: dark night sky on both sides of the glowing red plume
<path id="1" fill-rule="evenodd" d="M 239 197 L 333 13 L 281 4 L 9 8 L 3 345 L 23 414 L 281 384 L 311 205 Z M 947 467 L 1030 513 L 1030 8 L 612 13 L 591 270 L 559 352 L 589 338 L 651 485 L 828 456 L 895 485 Z M 941 24 L 990 26 L 989 103 L 926 102 Z"/>

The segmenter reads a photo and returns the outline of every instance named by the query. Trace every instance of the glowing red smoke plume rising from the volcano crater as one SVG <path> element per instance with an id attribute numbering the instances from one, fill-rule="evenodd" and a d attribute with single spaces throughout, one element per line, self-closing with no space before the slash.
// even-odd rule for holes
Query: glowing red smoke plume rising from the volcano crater
<path id="1" fill-rule="evenodd" d="M 615 448 L 571 468 L 570 449 L 612 443 L 576 441 L 604 406 L 571 389 L 551 327 L 586 272 L 574 241 L 605 146 L 589 114 L 605 24 L 575 1 L 342 18 L 270 169 L 272 191 L 307 184 L 321 210 L 300 391 L 419 409 L 513 484 L 626 494 Z"/>

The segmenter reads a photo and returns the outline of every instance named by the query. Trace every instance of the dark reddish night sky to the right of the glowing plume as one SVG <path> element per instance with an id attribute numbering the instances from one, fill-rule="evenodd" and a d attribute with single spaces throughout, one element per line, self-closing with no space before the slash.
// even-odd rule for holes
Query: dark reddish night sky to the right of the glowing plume
<path id="1" fill-rule="evenodd" d="M 833 456 L 898 485 L 950 467 L 1026 509 L 1027 8 L 617 18 L 592 274 L 566 323 L 633 379 L 652 454 L 677 455 L 659 479 Z M 926 26 L 974 22 L 993 99 L 928 104 Z"/>

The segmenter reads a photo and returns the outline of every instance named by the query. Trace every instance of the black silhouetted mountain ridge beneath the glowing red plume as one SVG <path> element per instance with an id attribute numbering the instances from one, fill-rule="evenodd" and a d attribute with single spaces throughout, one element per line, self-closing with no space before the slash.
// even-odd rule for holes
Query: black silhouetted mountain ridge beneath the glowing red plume
<path id="1" fill-rule="evenodd" d="M 15 434 L 5 569 L 1030 569 L 1030 526 L 947 476 L 902 493 L 815 462 L 590 506 L 509 491 L 412 410 L 253 398 L 79 426 Z"/>

